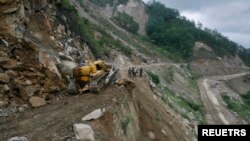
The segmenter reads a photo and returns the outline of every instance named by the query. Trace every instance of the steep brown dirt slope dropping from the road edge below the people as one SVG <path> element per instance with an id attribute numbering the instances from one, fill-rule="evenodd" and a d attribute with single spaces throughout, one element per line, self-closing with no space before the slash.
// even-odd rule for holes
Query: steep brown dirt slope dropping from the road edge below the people
<path id="1" fill-rule="evenodd" d="M 147 133 L 150 131 L 159 141 L 191 140 L 194 137 L 187 122 L 154 95 L 145 78 L 133 80 L 137 84 L 134 94 L 140 107 L 140 140 L 149 140 Z"/>

